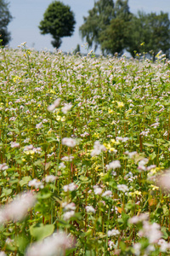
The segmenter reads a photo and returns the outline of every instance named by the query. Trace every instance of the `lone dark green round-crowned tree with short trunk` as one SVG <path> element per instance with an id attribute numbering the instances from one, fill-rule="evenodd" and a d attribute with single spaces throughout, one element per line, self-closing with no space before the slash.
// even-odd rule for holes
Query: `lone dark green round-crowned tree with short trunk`
<path id="1" fill-rule="evenodd" d="M 51 34 L 54 38 L 51 43 L 54 47 L 59 48 L 62 43 L 61 38 L 71 37 L 75 24 L 76 21 L 71 8 L 64 3 L 54 1 L 48 5 L 39 29 L 42 34 Z"/>

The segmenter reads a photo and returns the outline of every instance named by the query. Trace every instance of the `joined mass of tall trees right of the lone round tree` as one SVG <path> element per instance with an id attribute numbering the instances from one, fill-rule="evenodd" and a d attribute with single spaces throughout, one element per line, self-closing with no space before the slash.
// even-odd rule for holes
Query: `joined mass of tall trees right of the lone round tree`
<path id="1" fill-rule="evenodd" d="M 89 47 L 100 46 L 104 54 L 122 55 L 127 50 L 131 55 L 136 52 L 143 54 L 144 50 L 153 55 L 161 50 L 169 57 L 170 54 L 170 20 L 168 14 L 161 12 L 138 15 L 130 13 L 128 1 L 99 0 L 94 8 L 84 17 L 80 27 L 82 38 Z M 140 44 L 144 43 L 144 47 Z"/>

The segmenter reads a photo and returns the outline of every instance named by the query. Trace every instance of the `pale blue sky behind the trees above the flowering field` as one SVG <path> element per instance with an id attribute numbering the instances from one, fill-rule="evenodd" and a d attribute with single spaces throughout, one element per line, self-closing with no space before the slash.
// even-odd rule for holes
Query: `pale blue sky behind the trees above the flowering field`
<path id="1" fill-rule="evenodd" d="M 38 50 L 53 50 L 50 35 L 41 35 L 38 29 L 39 22 L 42 20 L 43 13 L 48 8 L 52 0 L 11 0 L 9 1 L 9 10 L 14 16 L 14 20 L 8 25 L 8 31 L 11 32 L 12 40 L 9 46 L 17 48 L 23 42 L 27 43 L 29 48 Z M 79 34 L 79 26 L 83 23 L 83 16 L 88 15 L 88 10 L 94 7 L 94 0 L 63 0 L 60 1 L 71 6 L 75 14 L 77 24 L 75 32 L 71 38 L 63 38 L 60 49 L 69 52 L 77 47 L 77 44 L 85 44 Z M 138 10 L 146 13 L 168 12 L 170 17 L 170 0 L 129 0 L 129 7 L 133 14 Z M 87 52 L 83 46 L 82 52 Z M 98 51 L 99 52 L 99 51 Z"/>

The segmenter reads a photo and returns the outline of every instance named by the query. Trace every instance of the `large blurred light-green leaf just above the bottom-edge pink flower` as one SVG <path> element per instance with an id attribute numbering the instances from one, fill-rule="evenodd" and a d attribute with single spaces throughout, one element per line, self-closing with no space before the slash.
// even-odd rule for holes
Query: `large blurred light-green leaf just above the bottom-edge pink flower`
<path id="1" fill-rule="evenodd" d="M 30 234 L 37 241 L 44 239 L 54 233 L 54 224 L 33 224 L 30 227 Z"/>

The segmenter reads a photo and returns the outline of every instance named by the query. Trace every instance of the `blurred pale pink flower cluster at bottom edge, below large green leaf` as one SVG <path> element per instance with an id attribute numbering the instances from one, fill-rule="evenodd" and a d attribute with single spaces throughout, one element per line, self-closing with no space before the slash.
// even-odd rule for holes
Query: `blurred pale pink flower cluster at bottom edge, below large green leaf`
<path id="1" fill-rule="evenodd" d="M 71 239 L 65 233 L 54 233 L 43 241 L 37 241 L 28 247 L 26 256 L 64 255 L 65 249 L 71 247 Z"/>

